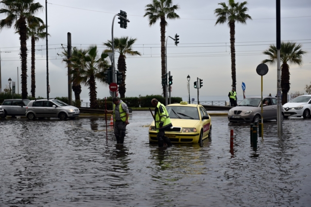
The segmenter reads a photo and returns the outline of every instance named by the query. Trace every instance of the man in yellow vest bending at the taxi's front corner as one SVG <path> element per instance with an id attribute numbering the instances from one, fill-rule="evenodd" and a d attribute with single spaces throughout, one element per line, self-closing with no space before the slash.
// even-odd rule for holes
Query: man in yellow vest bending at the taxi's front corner
<path id="1" fill-rule="evenodd" d="M 151 104 L 155 106 L 155 129 L 157 132 L 156 139 L 159 147 L 163 147 L 164 142 L 168 147 L 172 146 L 171 140 L 165 137 L 164 131 L 169 131 L 173 126 L 169 114 L 163 104 L 156 99 L 151 101 Z"/>

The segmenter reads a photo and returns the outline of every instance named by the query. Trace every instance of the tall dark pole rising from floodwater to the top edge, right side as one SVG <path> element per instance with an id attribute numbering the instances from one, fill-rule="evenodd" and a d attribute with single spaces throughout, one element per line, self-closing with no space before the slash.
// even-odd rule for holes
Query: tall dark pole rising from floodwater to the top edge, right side
<path id="1" fill-rule="evenodd" d="M 281 67 L 280 67 L 280 49 L 281 49 L 281 0 L 276 0 L 276 49 L 277 49 L 277 135 L 282 135 L 282 102 L 281 102 Z"/>

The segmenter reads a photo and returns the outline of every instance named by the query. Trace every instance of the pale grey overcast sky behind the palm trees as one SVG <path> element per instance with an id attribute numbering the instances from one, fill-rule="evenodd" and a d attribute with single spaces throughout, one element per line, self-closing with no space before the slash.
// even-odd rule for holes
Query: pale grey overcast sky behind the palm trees
<path id="1" fill-rule="evenodd" d="M 35 1 L 37 2 L 37 1 Z M 37 16 L 45 22 L 45 0 L 38 0 L 44 10 Z M 130 20 L 127 29 L 120 28 L 118 19 L 114 22 L 114 36 L 137 38 L 133 49 L 142 55 L 126 58 L 127 97 L 138 95 L 162 94 L 160 26 L 159 22 L 149 26 L 148 18 L 143 17 L 145 6 L 151 0 L 48 0 L 49 36 L 49 82 L 50 97 L 68 96 L 67 68 L 62 63 L 61 44 L 67 45 L 67 33 L 71 33 L 74 47 L 87 48 L 98 46 L 99 52 L 105 47 L 103 42 L 111 39 L 111 25 L 115 14 L 120 10 L 127 12 Z M 168 40 L 168 71 L 173 75 L 172 96 L 188 97 L 187 75 L 190 75 L 190 96 L 195 98 L 197 90 L 193 88 L 196 78 L 203 79 L 200 96 L 226 96 L 231 90 L 231 59 L 229 27 L 216 25 L 214 10 L 220 8 L 224 0 L 173 0 L 180 9 L 176 13 L 180 19 L 168 20 L 166 36 L 180 35 L 176 47 L 172 39 Z M 227 1 L 225 1 L 227 3 Z M 241 2 L 241 1 L 239 1 Z M 276 44 L 276 1 L 248 0 L 247 12 L 253 20 L 246 25 L 236 23 L 236 78 L 237 93 L 242 95 L 241 84 L 246 84 L 247 95 L 260 95 L 260 76 L 256 67 L 267 55 L 262 51 L 270 44 Z M 308 53 L 303 56 L 303 66 L 290 65 L 291 89 L 304 92 L 311 82 L 311 1 L 281 0 L 281 40 L 300 43 Z M 0 16 L 5 18 L 4 15 Z M 36 97 L 46 97 L 46 40 L 36 42 Z M 28 94 L 31 90 L 31 42 L 28 50 Z M 8 86 L 8 79 L 17 83 L 17 67 L 20 75 L 19 35 L 13 29 L 0 32 L 1 81 L 2 90 Z M 42 49 L 42 50 L 41 50 Z M 116 53 L 116 60 L 118 53 Z M 276 94 L 276 65 L 268 65 L 269 72 L 263 76 L 263 94 Z M 18 77 L 20 82 L 20 76 Z M 21 93 L 19 83 L 19 93 Z M 88 89 L 83 86 L 81 97 L 88 100 Z M 97 97 L 108 97 L 108 86 L 97 83 Z M 72 95 L 74 98 L 74 95 Z M 188 100 L 188 99 L 186 99 Z M 201 100 L 201 99 L 200 99 Z M 205 100 L 201 100 L 205 101 Z"/>

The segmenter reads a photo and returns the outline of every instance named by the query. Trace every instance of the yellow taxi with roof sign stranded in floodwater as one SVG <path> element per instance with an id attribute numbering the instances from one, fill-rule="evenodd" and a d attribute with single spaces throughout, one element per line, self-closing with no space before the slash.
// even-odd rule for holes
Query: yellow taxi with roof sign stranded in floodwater
<path id="1" fill-rule="evenodd" d="M 166 110 L 173 127 L 165 131 L 165 136 L 172 143 L 202 143 L 204 139 L 211 138 L 210 116 L 202 105 L 180 102 L 167 105 Z M 155 121 L 149 127 L 149 142 L 157 142 Z"/>

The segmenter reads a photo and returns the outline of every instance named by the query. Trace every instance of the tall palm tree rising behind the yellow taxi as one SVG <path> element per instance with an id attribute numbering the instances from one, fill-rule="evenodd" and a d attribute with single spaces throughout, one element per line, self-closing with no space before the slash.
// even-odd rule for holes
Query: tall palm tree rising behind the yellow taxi
<path id="1" fill-rule="evenodd" d="M 155 24 L 160 19 L 160 31 L 161 31 L 161 79 L 165 77 L 165 27 L 167 26 L 168 19 L 180 18 L 175 13 L 175 10 L 179 9 L 178 5 L 172 5 L 173 0 L 152 0 L 151 4 L 146 5 L 146 13 L 144 17 L 148 16 L 149 26 Z M 163 95 L 166 97 L 166 90 L 163 87 Z"/>

